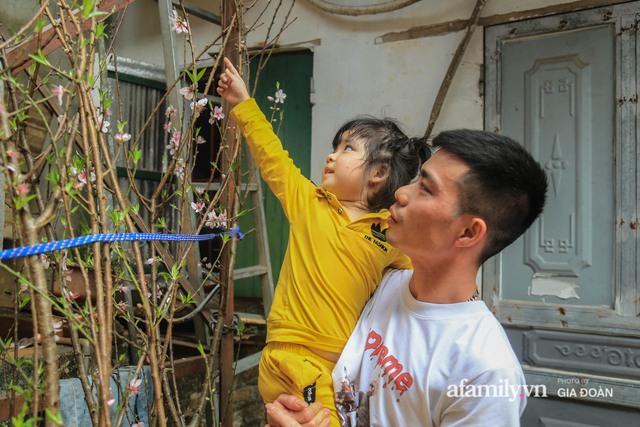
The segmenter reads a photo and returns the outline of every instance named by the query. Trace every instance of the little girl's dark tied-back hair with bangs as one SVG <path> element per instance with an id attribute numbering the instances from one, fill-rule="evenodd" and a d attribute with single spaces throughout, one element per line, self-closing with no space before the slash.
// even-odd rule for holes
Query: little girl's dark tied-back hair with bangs
<path id="1" fill-rule="evenodd" d="M 431 149 L 423 138 L 409 138 L 395 120 L 362 116 L 348 121 L 333 138 L 335 150 L 342 135 L 361 138 L 365 145 L 364 175 L 376 165 L 387 166 L 387 178 L 380 189 L 369 195 L 367 205 L 372 212 L 388 209 L 395 203 L 395 192 L 416 177 L 422 163 L 431 156 Z"/>

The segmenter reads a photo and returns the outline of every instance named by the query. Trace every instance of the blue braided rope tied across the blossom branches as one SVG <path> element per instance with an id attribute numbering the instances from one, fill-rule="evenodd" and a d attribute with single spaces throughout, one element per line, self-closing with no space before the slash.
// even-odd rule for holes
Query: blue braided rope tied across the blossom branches
<path id="1" fill-rule="evenodd" d="M 162 234 L 162 233 L 113 233 L 113 234 L 89 234 L 86 236 L 74 237 L 73 239 L 57 240 L 55 242 L 40 243 L 20 248 L 11 248 L 0 251 L 0 260 L 21 258 L 31 255 L 40 255 L 47 252 L 59 251 L 61 249 L 75 248 L 96 242 L 130 242 L 130 241 L 201 241 L 211 240 L 225 233 L 212 234 Z M 240 227 L 234 227 L 227 231 L 230 237 L 236 236 L 244 239 L 244 234 L 240 232 Z"/>

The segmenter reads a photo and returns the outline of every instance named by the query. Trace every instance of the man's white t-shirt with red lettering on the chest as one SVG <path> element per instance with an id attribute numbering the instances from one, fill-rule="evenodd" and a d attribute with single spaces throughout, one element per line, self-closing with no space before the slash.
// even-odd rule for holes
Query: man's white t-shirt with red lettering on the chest
<path id="1" fill-rule="evenodd" d="M 383 277 L 336 364 L 342 425 L 520 425 L 528 393 L 500 323 L 482 301 L 416 300 L 412 275 Z"/>

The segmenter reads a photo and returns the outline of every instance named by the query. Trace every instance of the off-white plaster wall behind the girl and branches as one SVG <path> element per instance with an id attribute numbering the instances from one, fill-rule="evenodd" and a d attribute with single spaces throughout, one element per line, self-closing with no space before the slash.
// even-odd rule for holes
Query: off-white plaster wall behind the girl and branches
<path id="1" fill-rule="evenodd" d="M 291 0 L 283 1 L 281 10 L 291 4 Z M 482 16 L 569 1 L 492 0 L 487 2 Z M 206 0 L 193 3 L 209 10 L 212 8 L 211 2 Z M 405 125 L 408 134 L 424 134 L 434 99 L 464 33 L 378 44 L 376 38 L 411 27 L 468 19 L 475 3 L 476 0 L 422 0 L 402 10 L 361 17 L 331 15 L 304 0 L 295 3 L 291 13 L 295 22 L 284 32 L 279 44 L 312 47 L 314 51 L 311 158 L 314 181 L 320 181 L 322 165 L 336 129 L 358 114 L 393 117 Z M 248 13 L 247 24 L 255 21 L 262 4 L 266 2 L 259 0 Z M 274 5 L 263 15 L 264 24 L 249 34 L 248 46 L 264 40 Z M 212 12 L 219 13 L 217 10 Z M 197 18 L 191 24 L 196 51 L 220 31 L 215 25 Z M 279 26 L 276 24 L 275 27 Z M 120 30 L 118 54 L 162 65 L 159 31 L 157 3 L 137 0 L 129 7 Z M 482 128 L 483 102 L 479 92 L 482 63 L 483 36 L 482 28 L 478 28 L 453 80 L 435 132 L 458 127 Z M 279 80 L 286 92 L 286 76 Z M 304 94 L 287 95 L 291 99 Z"/>

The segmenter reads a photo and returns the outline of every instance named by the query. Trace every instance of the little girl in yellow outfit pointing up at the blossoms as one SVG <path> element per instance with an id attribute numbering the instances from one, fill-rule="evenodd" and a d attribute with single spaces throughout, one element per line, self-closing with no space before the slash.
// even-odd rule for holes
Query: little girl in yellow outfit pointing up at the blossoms
<path id="1" fill-rule="evenodd" d="M 335 411 L 331 371 L 385 268 L 411 268 L 385 238 L 394 193 L 430 151 L 391 120 L 344 124 L 322 171 L 305 178 L 225 58 L 218 93 L 290 223 L 289 244 L 267 323 L 258 386 L 265 402 L 281 393 Z"/>

